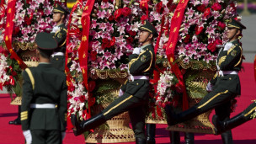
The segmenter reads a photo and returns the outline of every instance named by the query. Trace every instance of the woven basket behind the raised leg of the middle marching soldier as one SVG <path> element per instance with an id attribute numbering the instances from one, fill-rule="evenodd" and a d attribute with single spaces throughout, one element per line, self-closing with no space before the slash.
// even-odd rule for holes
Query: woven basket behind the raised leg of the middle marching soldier
<path id="1" fill-rule="evenodd" d="M 119 94 L 121 83 L 125 82 L 126 78 L 115 78 L 109 80 L 97 80 L 97 87 L 108 86 L 110 89 L 96 93 L 100 95 L 99 100 L 104 108 L 113 102 Z M 97 89 L 97 88 L 96 88 Z M 108 120 L 106 123 L 109 129 L 94 129 L 86 138 L 87 143 L 118 143 L 135 141 L 134 132 L 129 126 L 130 118 L 128 112 L 122 113 Z"/>

